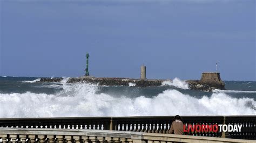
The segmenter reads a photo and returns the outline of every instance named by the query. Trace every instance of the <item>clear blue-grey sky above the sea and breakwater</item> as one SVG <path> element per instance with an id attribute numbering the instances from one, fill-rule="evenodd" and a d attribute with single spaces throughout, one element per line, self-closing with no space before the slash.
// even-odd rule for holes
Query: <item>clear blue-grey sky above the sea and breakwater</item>
<path id="1" fill-rule="evenodd" d="M 0 76 L 256 81 L 253 0 L 0 0 Z"/>

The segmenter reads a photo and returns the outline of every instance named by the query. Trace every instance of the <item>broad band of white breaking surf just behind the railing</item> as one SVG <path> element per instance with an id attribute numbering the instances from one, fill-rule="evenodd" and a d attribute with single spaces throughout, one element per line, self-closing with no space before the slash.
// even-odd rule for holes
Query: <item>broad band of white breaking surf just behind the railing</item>
<path id="1" fill-rule="evenodd" d="M 223 92 L 198 99 L 165 90 L 152 98 L 130 98 L 96 94 L 97 90 L 92 84 L 63 84 L 63 91 L 55 95 L 0 94 L 0 118 L 256 114 L 254 99 L 233 98 Z"/>

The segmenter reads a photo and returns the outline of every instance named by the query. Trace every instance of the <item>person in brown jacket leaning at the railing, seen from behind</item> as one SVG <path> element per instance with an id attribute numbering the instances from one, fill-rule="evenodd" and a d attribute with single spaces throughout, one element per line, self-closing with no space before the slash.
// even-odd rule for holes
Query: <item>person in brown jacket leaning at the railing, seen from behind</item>
<path id="1" fill-rule="evenodd" d="M 172 125 L 169 130 L 169 133 L 174 133 L 174 134 L 184 134 L 183 130 L 183 120 L 179 115 L 176 115 L 174 119 L 172 120 Z M 187 128 L 187 127 L 186 127 Z"/>

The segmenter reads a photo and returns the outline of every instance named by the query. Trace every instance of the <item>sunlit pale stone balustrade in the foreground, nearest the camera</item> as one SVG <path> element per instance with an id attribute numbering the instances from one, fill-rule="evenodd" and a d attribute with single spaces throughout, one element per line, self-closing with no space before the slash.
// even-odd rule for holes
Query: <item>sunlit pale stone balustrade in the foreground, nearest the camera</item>
<path id="1" fill-rule="evenodd" d="M 254 142 L 252 140 L 196 137 L 127 131 L 79 130 L 54 128 L 2 128 L 0 142 L 85 142 L 85 143 L 170 143 L 175 142 Z"/>

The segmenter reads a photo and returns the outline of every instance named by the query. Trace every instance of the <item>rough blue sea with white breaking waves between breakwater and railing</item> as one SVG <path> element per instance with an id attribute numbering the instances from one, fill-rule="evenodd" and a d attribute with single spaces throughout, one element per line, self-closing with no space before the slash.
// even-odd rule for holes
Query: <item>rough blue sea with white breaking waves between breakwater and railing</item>
<path id="1" fill-rule="evenodd" d="M 226 90 L 197 91 L 174 78 L 159 87 L 38 82 L 0 77 L 0 118 L 256 115 L 256 82 L 224 81 Z"/>

